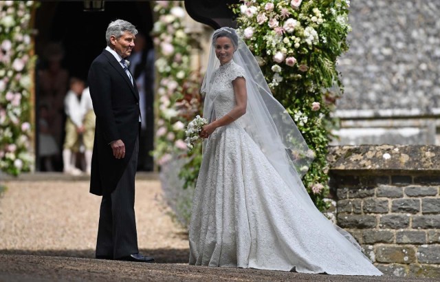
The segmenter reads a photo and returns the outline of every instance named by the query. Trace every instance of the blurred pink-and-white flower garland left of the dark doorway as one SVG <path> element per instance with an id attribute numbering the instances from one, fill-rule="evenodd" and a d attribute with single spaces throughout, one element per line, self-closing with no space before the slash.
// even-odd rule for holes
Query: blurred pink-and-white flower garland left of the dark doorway
<path id="1" fill-rule="evenodd" d="M 0 171 L 30 171 L 30 14 L 34 1 L 0 1 Z"/>

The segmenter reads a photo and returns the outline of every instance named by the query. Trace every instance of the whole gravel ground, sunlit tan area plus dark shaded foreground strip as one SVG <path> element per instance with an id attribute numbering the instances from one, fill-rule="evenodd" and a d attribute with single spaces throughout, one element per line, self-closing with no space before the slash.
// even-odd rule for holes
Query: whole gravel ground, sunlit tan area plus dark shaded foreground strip
<path id="1" fill-rule="evenodd" d="M 187 265 L 186 232 L 168 215 L 155 179 L 136 181 L 135 211 L 140 251 L 157 263 L 93 259 L 100 197 L 88 193 L 88 180 L 30 178 L 3 182 L 0 281 L 434 281 Z"/>

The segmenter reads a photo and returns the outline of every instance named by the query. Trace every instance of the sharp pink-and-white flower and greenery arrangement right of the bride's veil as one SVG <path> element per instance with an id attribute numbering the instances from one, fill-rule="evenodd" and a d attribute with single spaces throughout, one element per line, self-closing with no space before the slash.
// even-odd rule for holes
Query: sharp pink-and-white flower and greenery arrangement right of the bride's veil
<path id="1" fill-rule="evenodd" d="M 316 151 L 303 182 L 320 210 L 328 207 L 330 113 L 343 87 L 337 58 L 348 50 L 349 0 L 244 0 L 232 7 L 239 34 L 256 56 L 274 97 Z"/>

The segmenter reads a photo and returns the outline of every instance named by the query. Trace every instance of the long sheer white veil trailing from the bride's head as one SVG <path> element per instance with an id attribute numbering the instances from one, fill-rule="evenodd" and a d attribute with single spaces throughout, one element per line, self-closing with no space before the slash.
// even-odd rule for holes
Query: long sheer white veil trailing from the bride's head
<path id="1" fill-rule="evenodd" d="M 220 28 L 214 32 L 213 39 L 217 38 L 216 34 L 218 32 L 235 33 L 235 30 L 232 28 Z M 314 152 L 307 146 L 289 113 L 272 96 L 254 55 L 240 38 L 232 60 L 237 65 L 243 67 L 248 92 L 246 113 L 236 122 L 243 127 L 250 138 L 259 146 L 267 160 L 270 161 L 287 184 L 287 187 L 292 191 L 294 197 L 297 197 L 304 203 L 303 208 L 305 210 L 301 210 L 301 212 L 310 215 L 315 221 L 313 224 L 318 224 L 322 226 L 323 230 L 328 231 L 325 237 L 326 242 L 324 243 L 334 244 L 335 242 L 342 242 L 342 246 L 346 248 L 346 251 L 360 252 L 362 254 L 359 244 L 349 232 L 333 225 L 331 221 L 320 213 L 309 197 L 301 177 L 307 172 L 309 165 L 314 160 Z M 217 97 L 211 94 L 211 90 L 214 73 L 219 68 L 219 65 L 219 60 L 215 56 L 214 42 L 212 42 L 208 68 L 201 86 L 201 93 L 206 94 L 203 117 L 209 122 L 217 118 L 214 111 L 214 103 Z M 205 142 L 207 141 L 205 140 Z M 203 144 L 203 147 L 205 145 Z M 312 223 L 305 222 L 305 224 Z M 338 232 L 335 232 L 335 230 Z M 346 239 L 351 243 L 343 243 Z"/>

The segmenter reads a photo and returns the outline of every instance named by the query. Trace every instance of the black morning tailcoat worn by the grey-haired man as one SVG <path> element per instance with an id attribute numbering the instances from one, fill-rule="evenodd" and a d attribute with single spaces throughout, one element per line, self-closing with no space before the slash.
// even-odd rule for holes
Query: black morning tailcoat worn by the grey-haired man
<path id="1" fill-rule="evenodd" d="M 91 63 L 88 82 L 96 114 L 90 193 L 109 195 L 122 177 L 139 136 L 139 92 L 107 50 Z M 119 160 L 109 144 L 118 139 L 125 144 L 125 157 Z"/>

